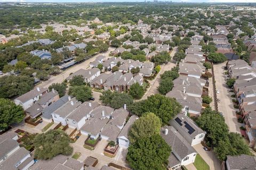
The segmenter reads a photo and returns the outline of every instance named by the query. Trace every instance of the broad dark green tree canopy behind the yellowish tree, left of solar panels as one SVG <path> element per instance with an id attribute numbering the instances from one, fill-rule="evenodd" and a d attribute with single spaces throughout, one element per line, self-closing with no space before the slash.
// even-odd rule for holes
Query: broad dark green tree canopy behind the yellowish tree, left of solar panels
<path id="1" fill-rule="evenodd" d="M 156 94 L 149 96 L 146 100 L 135 102 L 129 109 L 138 116 L 146 112 L 155 113 L 163 124 L 167 124 L 175 115 L 180 113 L 181 105 L 173 98 Z"/>

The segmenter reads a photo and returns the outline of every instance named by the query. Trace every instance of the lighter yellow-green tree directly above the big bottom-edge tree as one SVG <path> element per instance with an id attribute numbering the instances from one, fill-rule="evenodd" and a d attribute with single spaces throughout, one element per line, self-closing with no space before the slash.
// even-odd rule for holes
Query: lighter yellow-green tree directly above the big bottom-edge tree
<path id="1" fill-rule="evenodd" d="M 159 134 L 162 122 L 154 113 L 145 113 L 135 121 L 128 133 L 131 143 L 140 138 L 150 138 L 152 135 Z"/>

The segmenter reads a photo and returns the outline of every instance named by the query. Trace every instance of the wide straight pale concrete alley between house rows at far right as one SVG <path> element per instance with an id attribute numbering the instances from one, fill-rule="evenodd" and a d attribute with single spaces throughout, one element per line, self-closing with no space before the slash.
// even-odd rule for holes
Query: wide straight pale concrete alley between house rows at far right
<path id="1" fill-rule="evenodd" d="M 236 111 L 231 100 L 231 95 L 226 84 L 226 76 L 224 74 L 224 67 L 226 63 L 214 64 L 214 74 L 216 80 L 216 88 L 220 91 L 217 94 L 217 98 L 220 99 L 218 103 L 219 112 L 222 112 L 225 117 L 225 122 L 228 125 L 230 132 L 241 133 L 239 130 L 239 125 L 236 118 Z"/>

